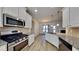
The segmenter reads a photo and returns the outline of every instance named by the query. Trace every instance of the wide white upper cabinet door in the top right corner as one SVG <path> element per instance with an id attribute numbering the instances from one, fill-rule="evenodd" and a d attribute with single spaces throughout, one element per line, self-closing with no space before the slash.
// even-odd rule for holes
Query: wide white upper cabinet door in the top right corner
<path id="1" fill-rule="evenodd" d="M 72 27 L 79 27 L 79 7 L 70 8 L 70 25 Z"/>

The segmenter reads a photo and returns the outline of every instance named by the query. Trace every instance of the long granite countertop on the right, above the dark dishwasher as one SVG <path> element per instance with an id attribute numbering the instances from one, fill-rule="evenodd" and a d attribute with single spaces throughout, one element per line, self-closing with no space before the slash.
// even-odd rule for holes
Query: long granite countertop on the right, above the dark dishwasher
<path id="1" fill-rule="evenodd" d="M 56 35 L 71 44 L 73 47 L 79 49 L 79 38 L 59 33 Z"/>

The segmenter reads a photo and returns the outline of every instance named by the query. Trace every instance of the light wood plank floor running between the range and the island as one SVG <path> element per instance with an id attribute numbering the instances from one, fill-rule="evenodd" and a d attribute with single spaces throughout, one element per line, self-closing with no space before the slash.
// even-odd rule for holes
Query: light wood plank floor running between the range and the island
<path id="1" fill-rule="evenodd" d="M 57 48 L 45 41 L 44 35 L 40 35 L 30 47 L 27 46 L 22 51 L 57 51 Z"/>

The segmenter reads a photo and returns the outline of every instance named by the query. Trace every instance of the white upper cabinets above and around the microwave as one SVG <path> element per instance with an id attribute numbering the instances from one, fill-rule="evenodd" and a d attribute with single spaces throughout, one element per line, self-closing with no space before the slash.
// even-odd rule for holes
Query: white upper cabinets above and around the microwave
<path id="1" fill-rule="evenodd" d="M 32 28 L 32 16 L 26 12 L 25 7 L 0 8 L 0 27 L 3 27 L 3 13 L 25 21 L 25 28 Z"/>

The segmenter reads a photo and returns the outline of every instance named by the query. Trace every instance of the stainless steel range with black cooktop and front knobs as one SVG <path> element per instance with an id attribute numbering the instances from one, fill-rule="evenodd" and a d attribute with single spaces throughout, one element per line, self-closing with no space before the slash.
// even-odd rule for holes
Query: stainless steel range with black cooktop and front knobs
<path id="1" fill-rule="evenodd" d="M 28 44 L 28 35 L 22 34 L 22 32 L 16 33 L 4 33 L 1 35 L 1 39 L 8 42 L 7 50 L 8 51 L 17 51 L 21 50 L 23 46 Z M 25 42 L 25 45 L 23 44 Z M 16 49 L 16 48 L 17 49 Z"/>

